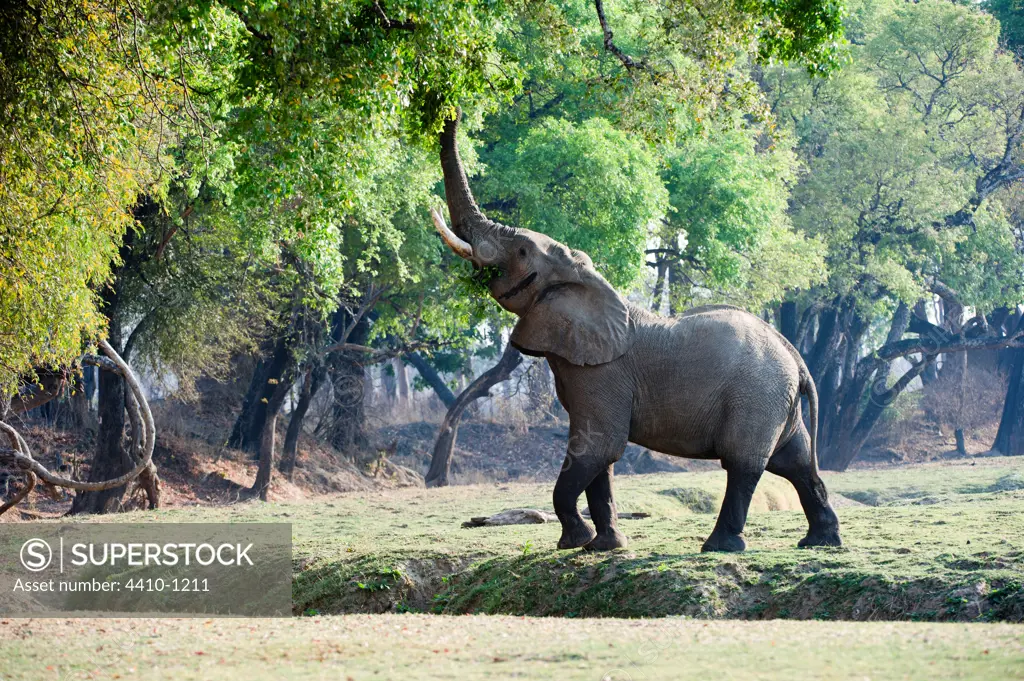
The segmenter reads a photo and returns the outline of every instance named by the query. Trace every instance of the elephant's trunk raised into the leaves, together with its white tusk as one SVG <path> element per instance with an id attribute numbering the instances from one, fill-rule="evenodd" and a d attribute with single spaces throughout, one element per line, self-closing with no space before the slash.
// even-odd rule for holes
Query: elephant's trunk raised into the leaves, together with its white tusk
<path id="1" fill-rule="evenodd" d="M 460 256 L 473 260 L 479 265 L 494 264 L 502 255 L 502 240 L 515 236 L 516 230 L 504 224 L 488 220 L 480 211 L 469 189 L 466 171 L 459 158 L 459 142 L 456 135 L 459 131 L 459 120 L 462 112 L 454 120 L 444 124 L 441 132 L 441 171 L 444 174 L 444 198 L 447 200 L 449 214 L 452 216 L 452 230 L 445 233 L 442 229 L 443 220 L 438 223 L 434 218 L 438 231 L 449 246 Z M 468 244 L 471 251 L 460 244 L 455 244 L 451 235 Z"/>

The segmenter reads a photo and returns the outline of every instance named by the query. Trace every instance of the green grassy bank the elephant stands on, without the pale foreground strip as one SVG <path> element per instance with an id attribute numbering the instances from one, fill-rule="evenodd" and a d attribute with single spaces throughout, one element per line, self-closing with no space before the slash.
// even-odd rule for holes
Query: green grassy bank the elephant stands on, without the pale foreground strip
<path id="1" fill-rule="evenodd" d="M 297 614 L 423 611 L 560 616 L 1024 621 L 1024 461 L 830 474 L 845 546 L 798 550 L 806 521 L 765 475 L 741 555 L 700 554 L 724 473 L 621 477 L 627 550 L 557 551 L 557 523 L 463 528 L 550 507 L 550 484 L 351 494 L 147 514 L 163 521 L 291 522 Z M 1007 483 L 1011 480 L 1011 483 Z M 769 510 L 781 509 L 781 510 Z M 139 519 L 126 514 L 104 520 Z"/>

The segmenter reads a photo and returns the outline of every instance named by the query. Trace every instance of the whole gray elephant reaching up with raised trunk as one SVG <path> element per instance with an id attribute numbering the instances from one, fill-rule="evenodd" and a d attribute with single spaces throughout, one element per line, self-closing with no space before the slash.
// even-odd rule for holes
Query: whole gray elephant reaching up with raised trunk
<path id="1" fill-rule="evenodd" d="M 665 318 L 626 301 L 586 253 L 536 231 L 488 220 L 466 181 L 457 122 L 441 134 L 452 231 L 442 237 L 477 267 L 494 267 L 492 296 L 519 318 L 511 342 L 547 357 L 569 414 L 565 463 L 555 483 L 558 548 L 625 547 L 616 527 L 612 464 L 626 443 L 691 459 L 719 459 L 728 473 L 705 551 L 742 551 L 751 497 L 768 470 L 788 479 L 810 524 L 800 546 L 839 546 L 839 519 L 818 477 L 814 382 L 797 350 L 770 325 L 712 305 Z M 460 241 L 461 240 L 461 241 Z M 596 531 L 577 504 L 587 495 Z"/>

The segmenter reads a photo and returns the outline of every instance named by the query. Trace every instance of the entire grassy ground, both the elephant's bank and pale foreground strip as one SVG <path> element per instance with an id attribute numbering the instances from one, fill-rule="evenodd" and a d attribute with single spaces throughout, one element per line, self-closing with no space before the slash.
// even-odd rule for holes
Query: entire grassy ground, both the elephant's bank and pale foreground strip
<path id="1" fill-rule="evenodd" d="M 840 506 L 846 546 L 816 550 L 796 549 L 803 513 L 766 475 L 741 555 L 698 553 L 722 473 L 617 479 L 620 510 L 651 517 L 622 521 L 630 548 L 610 554 L 554 550 L 556 524 L 460 526 L 548 508 L 550 484 L 94 518 L 290 522 L 305 616 L 4 621 L 0 678 L 1024 678 L 1024 627 L 990 623 L 1024 620 L 1022 472 L 991 459 L 827 475 L 871 505 Z"/>

